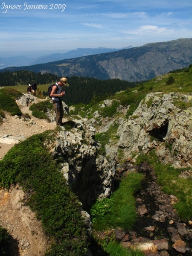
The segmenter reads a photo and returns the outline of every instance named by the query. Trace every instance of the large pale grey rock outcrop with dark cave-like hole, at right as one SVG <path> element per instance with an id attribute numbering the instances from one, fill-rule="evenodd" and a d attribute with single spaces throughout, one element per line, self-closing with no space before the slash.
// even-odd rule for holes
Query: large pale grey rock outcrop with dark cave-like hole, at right
<path id="1" fill-rule="evenodd" d="M 175 101 L 189 103 L 192 95 L 150 93 L 118 128 L 119 148 L 125 158 L 155 149 L 163 163 L 192 166 L 192 108 L 180 109 Z"/>

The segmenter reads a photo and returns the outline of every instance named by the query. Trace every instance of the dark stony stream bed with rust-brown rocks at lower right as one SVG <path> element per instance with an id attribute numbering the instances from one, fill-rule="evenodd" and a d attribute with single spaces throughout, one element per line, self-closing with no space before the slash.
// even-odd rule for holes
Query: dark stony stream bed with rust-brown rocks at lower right
<path id="1" fill-rule="evenodd" d="M 192 221 L 183 222 L 173 205 L 177 198 L 165 194 L 158 186 L 152 168 L 146 164 L 132 166 L 124 163 L 117 166 L 116 178 L 129 172 L 143 172 L 145 178 L 141 190 L 137 192 L 138 219 L 133 230 L 126 233 L 121 228 L 107 234 L 99 233 L 101 239 L 114 236 L 125 248 L 143 250 L 146 256 L 191 256 Z M 97 249 L 93 256 L 106 256 Z"/>

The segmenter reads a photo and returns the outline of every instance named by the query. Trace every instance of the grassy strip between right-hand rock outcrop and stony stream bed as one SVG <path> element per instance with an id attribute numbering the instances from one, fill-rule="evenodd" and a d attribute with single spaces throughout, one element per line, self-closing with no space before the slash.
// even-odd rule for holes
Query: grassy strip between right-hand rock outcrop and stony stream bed
<path id="1" fill-rule="evenodd" d="M 178 198 L 174 208 L 183 221 L 192 218 L 192 182 L 191 179 L 178 177 L 186 169 L 175 169 L 170 164 L 160 163 L 155 151 L 152 150 L 148 155 L 140 154 L 136 164 L 146 162 L 153 166 L 157 174 L 157 182 L 162 186 L 163 192 L 175 195 Z"/>

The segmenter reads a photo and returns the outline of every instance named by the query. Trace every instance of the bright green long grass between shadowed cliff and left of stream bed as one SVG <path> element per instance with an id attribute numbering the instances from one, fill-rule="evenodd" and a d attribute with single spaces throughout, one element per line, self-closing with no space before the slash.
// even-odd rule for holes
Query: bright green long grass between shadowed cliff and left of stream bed
<path id="1" fill-rule="evenodd" d="M 140 188 L 143 175 L 130 173 L 125 180 L 122 180 L 119 186 L 111 195 L 111 211 L 105 216 L 96 218 L 93 227 L 96 230 L 105 230 L 107 228 L 121 227 L 130 230 L 137 218 L 135 210 L 134 192 Z"/>

